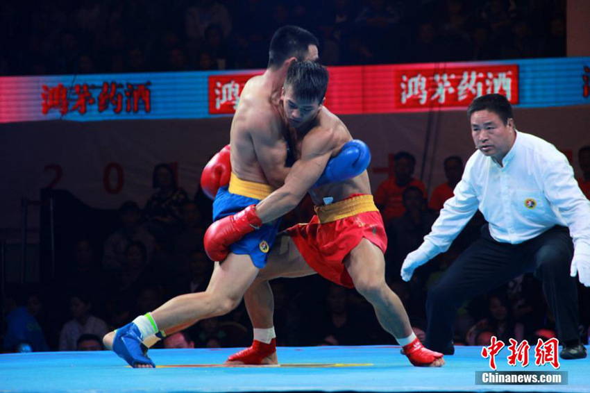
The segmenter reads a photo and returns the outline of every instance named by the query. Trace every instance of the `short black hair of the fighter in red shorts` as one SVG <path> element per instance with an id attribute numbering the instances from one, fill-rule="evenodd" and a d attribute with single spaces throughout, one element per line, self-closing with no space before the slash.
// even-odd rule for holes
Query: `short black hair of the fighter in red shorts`
<path id="1" fill-rule="evenodd" d="M 294 62 L 287 70 L 285 90 L 289 87 L 296 99 L 321 103 L 326 97 L 330 75 L 317 62 Z"/>

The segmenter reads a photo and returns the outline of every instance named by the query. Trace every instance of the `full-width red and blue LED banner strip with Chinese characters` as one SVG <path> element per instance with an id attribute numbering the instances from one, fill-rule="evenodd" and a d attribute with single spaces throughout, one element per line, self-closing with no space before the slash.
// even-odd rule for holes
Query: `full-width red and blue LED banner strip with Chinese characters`
<path id="1" fill-rule="evenodd" d="M 505 94 L 517 108 L 590 103 L 590 58 L 330 67 L 339 115 L 463 110 Z M 0 123 L 65 119 L 202 119 L 231 115 L 263 70 L 0 78 Z"/>

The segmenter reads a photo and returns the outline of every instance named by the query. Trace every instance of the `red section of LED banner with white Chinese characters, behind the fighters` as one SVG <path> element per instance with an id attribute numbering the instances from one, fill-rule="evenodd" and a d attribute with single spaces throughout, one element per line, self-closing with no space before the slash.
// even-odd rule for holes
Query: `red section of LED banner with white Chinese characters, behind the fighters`
<path id="1" fill-rule="evenodd" d="M 235 112 L 239 94 L 254 75 L 209 76 L 210 115 Z M 330 67 L 326 106 L 342 115 L 465 108 L 475 97 L 489 93 L 519 103 L 518 65 Z"/>

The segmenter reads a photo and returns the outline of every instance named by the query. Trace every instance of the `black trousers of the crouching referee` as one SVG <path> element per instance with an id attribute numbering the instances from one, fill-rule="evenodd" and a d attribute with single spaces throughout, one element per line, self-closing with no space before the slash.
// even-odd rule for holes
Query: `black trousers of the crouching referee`
<path id="1" fill-rule="evenodd" d="M 572 258 L 573 242 L 564 226 L 554 226 L 521 244 L 509 244 L 496 242 L 484 225 L 482 237 L 428 292 L 426 346 L 433 351 L 450 349 L 456 312 L 465 301 L 531 271 L 543 283 L 559 341 L 577 339 L 578 291 L 569 274 Z"/>

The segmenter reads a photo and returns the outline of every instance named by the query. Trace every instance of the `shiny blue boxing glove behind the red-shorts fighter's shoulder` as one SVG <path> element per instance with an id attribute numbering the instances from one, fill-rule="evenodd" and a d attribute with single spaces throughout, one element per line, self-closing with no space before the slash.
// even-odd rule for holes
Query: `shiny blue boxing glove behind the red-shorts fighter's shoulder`
<path id="1" fill-rule="evenodd" d="M 371 162 L 371 152 L 362 140 L 346 142 L 338 156 L 328 160 L 326 169 L 323 170 L 314 187 L 355 178 L 369 167 L 369 162 Z"/>

